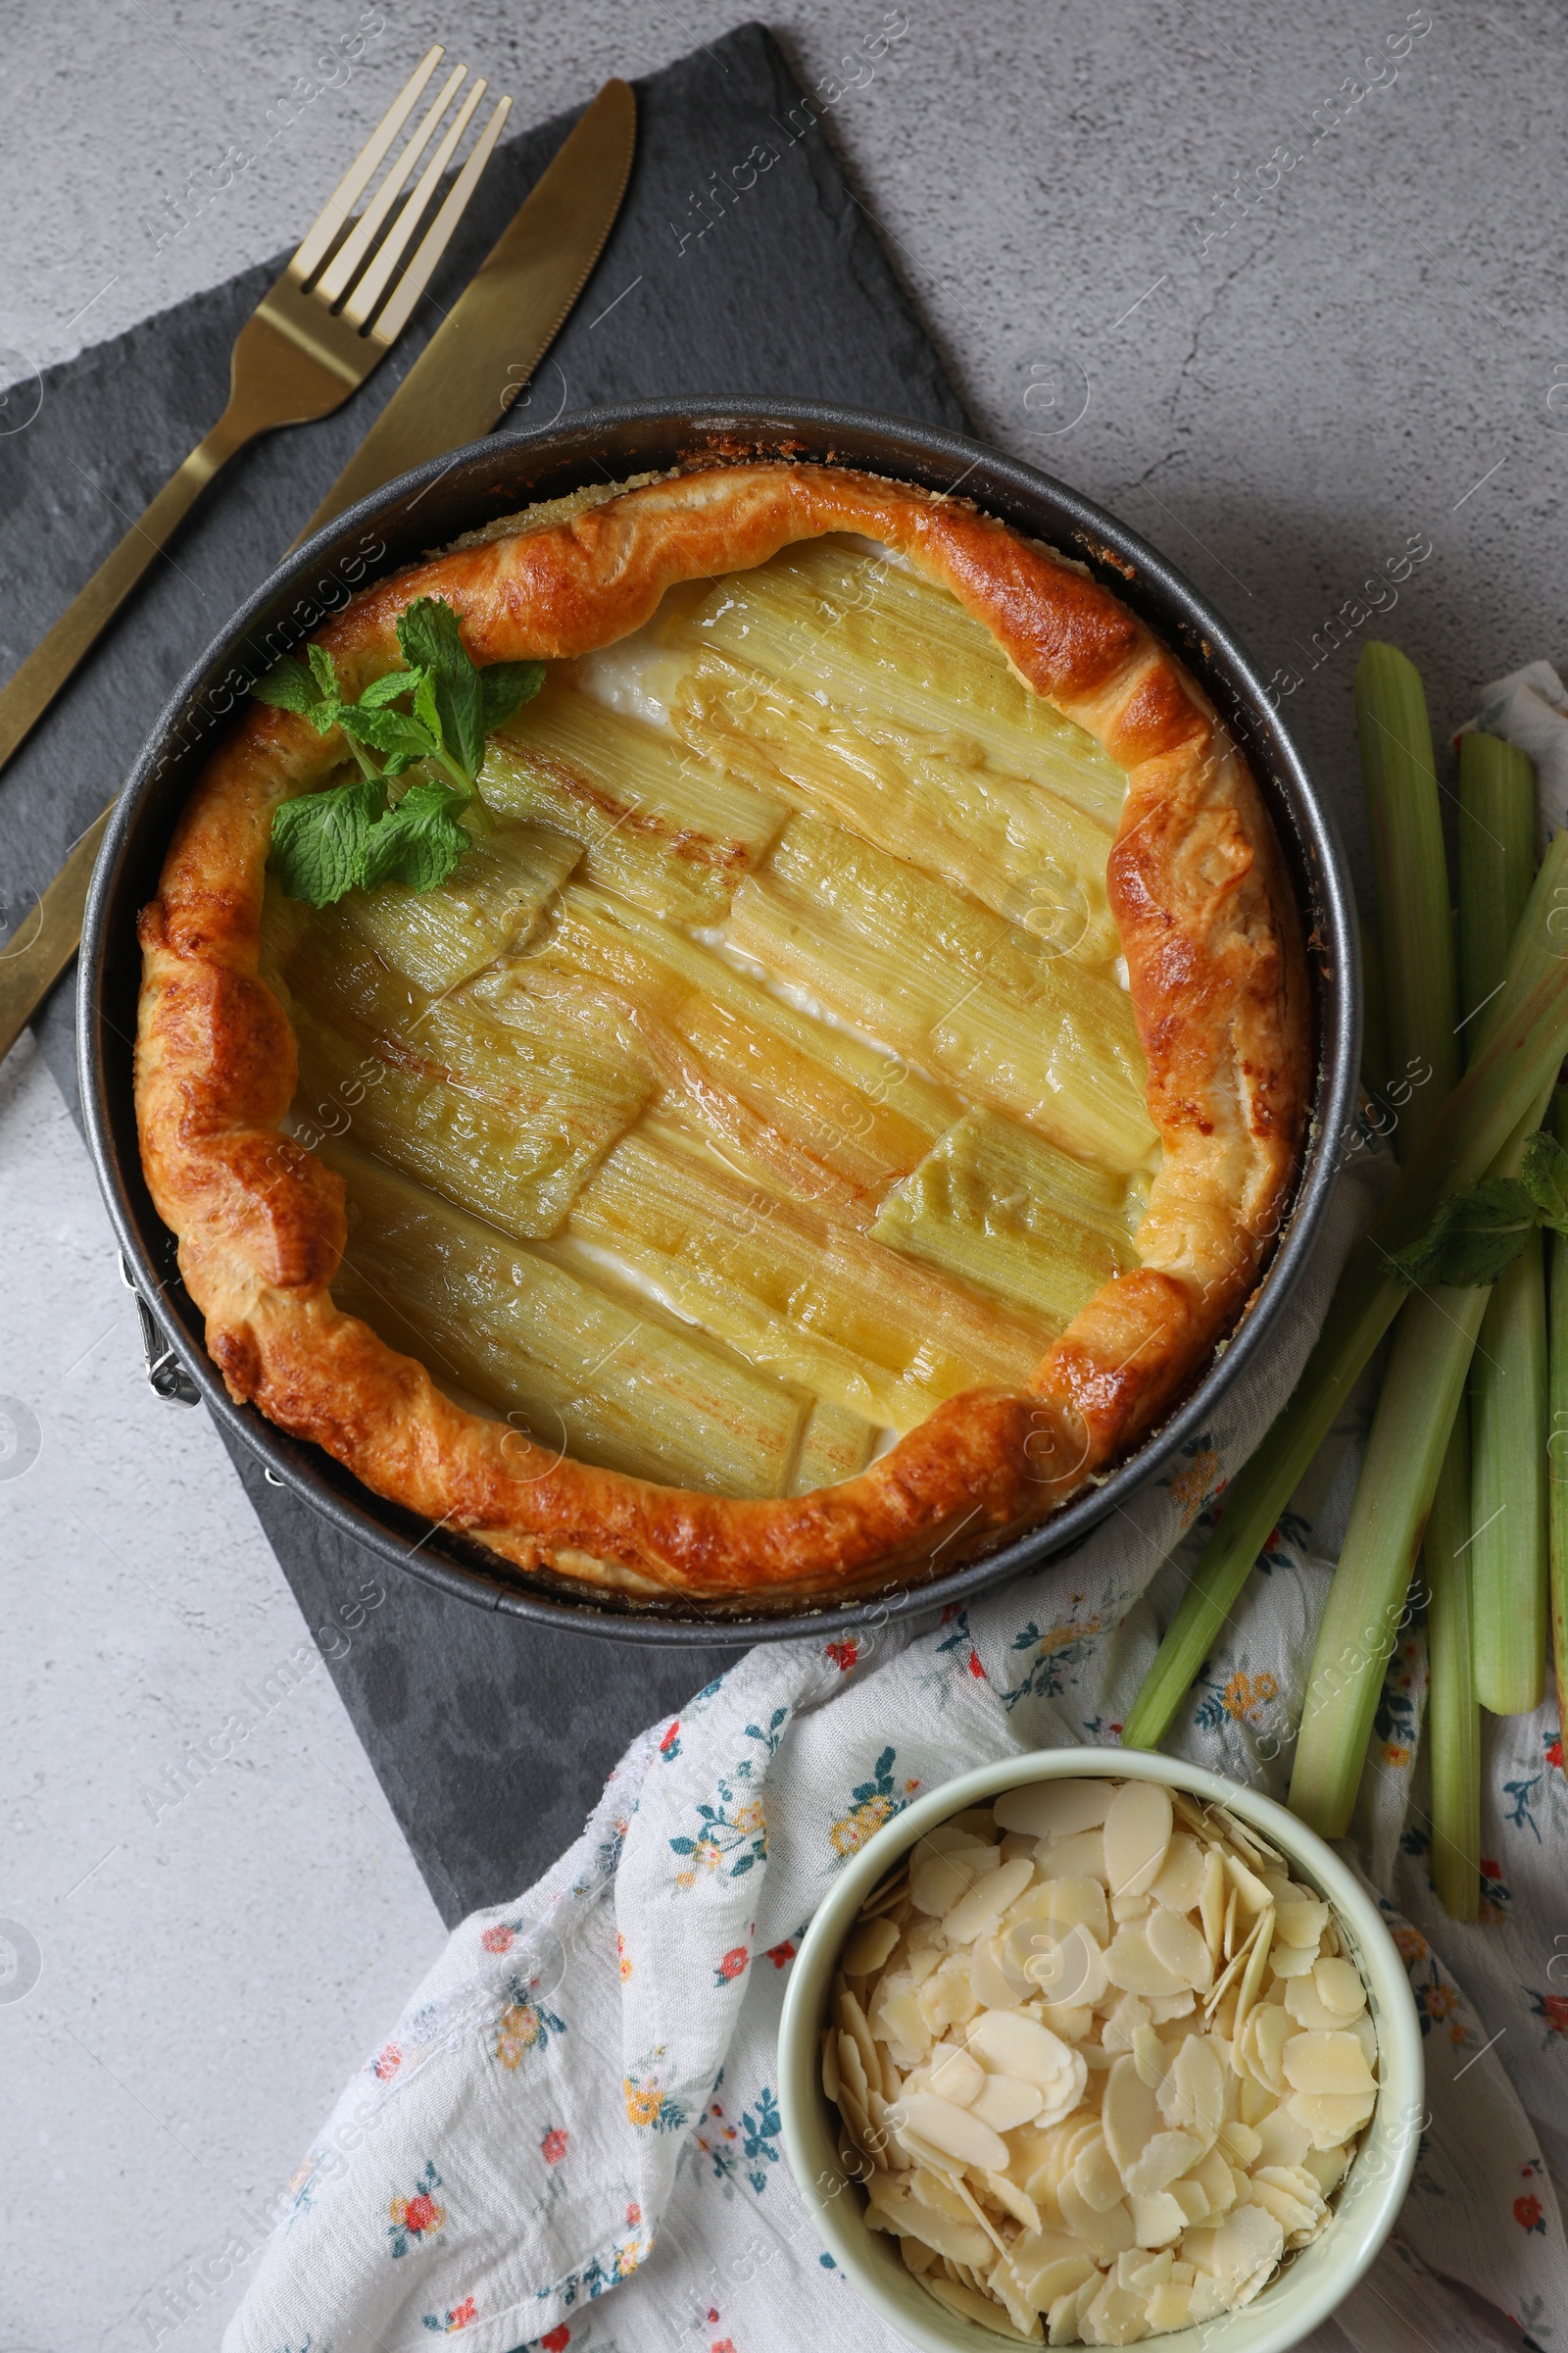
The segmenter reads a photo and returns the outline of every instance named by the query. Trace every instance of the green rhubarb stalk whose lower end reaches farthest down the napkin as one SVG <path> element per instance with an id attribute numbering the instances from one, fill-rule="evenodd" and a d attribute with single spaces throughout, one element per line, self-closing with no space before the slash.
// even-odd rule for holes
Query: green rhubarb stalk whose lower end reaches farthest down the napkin
<path id="1" fill-rule="evenodd" d="M 1432 1769 L 1432 1885 L 1450 1920 L 1481 1908 L 1481 1704 L 1469 1635 L 1469 1407 L 1448 1438 L 1427 1515 L 1427 1760 Z"/>

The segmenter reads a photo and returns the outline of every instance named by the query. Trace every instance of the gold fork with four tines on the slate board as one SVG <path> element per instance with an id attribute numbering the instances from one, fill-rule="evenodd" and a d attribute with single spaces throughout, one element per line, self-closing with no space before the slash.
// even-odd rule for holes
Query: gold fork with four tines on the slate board
<path id="1" fill-rule="evenodd" d="M 463 216 L 463 207 L 489 162 L 512 104 L 510 99 L 498 101 L 447 200 L 400 273 L 397 266 L 409 238 L 425 216 L 430 198 L 484 96 L 484 80 L 475 80 L 447 132 L 437 139 L 442 115 L 468 80 L 468 66 L 456 66 L 360 219 L 353 219 L 353 209 L 381 169 L 397 132 L 414 113 L 442 54 L 440 47 L 430 49 L 418 71 L 404 82 L 353 167 L 327 198 L 320 221 L 310 228 L 277 285 L 261 296 L 247 318 L 233 351 L 228 407 L 212 433 L 197 442 L 186 464 L 165 482 L 141 520 L 129 527 L 113 555 L 103 558 L 42 645 L 28 654 L 5 692 L 0 692 L 0 767 L 5 767 L 33 722 L 49 708 L 87 647 L 99 638 L 106 621 L 120 609 L 153 558 L 172 539 L 181 518 L 235 449 L 242 449 L 259 433 L 273 433 L 277 426 L 303 426 L 317 416 L 331 416 L 364 384 L 407 327 L 409 313 L 430 282 L 430 273 Z M 425 162 L 411 195 L 404 198 L 395 224 L 371 254 L 400 191 L 433 139 L 437 139 L 435 153 Z"/>

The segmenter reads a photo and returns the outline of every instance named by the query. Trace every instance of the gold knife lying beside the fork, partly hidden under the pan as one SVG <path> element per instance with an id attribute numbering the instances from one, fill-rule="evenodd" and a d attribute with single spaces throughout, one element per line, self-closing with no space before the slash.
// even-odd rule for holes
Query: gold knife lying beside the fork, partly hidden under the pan
<path id="1" fill-rule="evenodd" d="M 480 440 L 527 384 L 588 285 L 632 172 L 637 99 L 590 101 L 512 224 L 463 287 L 294 546 L 428 456 Z M 292 553 L 292 551 L 289 551 Z M 113 800 L 0 948 L 0 1059 L 82 941 L 87 885 Z"/>

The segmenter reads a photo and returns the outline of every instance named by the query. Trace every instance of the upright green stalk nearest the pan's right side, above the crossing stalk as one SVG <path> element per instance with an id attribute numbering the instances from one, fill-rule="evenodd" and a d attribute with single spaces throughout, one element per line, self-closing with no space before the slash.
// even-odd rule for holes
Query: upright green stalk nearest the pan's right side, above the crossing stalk
<path id="1" fill-rule="evenodd" d="M 1361 654 L 1356 736 L 1378 878 L 1387 1075 L 1410 1087 L 1394 1148 L 1408 1162 L 1460 1075 L 1460 1002 L 1427 696 L 1394 645 L 1373 642 Z"/>

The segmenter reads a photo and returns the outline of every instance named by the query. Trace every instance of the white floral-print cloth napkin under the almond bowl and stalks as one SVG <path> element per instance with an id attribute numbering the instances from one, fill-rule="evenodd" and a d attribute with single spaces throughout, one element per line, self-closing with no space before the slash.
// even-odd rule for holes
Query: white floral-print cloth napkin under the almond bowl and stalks
<path id="1" fill-rule="evenodd" d="M 1488 689 L 1497 732 L 1521 708 L 1535 736 L 1542 711 L 1559 729 L 1556 824 L 1568 696 L 1544 664 Z M 404 2353 L 458 2329 L 475 2353 L 792 2353 L 837 2329 L 865 2353 L 905 2344 L 820 2249 L 783 2162 L 776 2033 L 792 1953 L 839 1861 L 917 1791 L 1013 1751 L 1117 1739 L 1382 1174 L 1371 1141 L 1349 1153 L 1265 1360 L 1070 1560 L 940 1624 L 759 1647 L 632 1741 L 578 1845 L 454 1932 L 343 2092 L 226 2353 Z M 1319 1454 L 1175 1737 L 1276 1798 L 1359 1431 L 1349 1414 Z M 1552 2162 L 1568 2181 L 1561 1727 L 1552 1706 L 1488 1720 L 1486 1904 L 1476 1927 L 1455 1927 L 1425 1868 L 1425 1687 L 1410 1626 L 1349 1852 L 1410 1972 L 1432 2122 L 1392 2245 L 1314 2344 L 1469 2353 L 1523 2329 L 1566 2346 L 1568 2245 L 1547 2174 Z"/>

